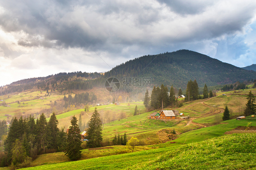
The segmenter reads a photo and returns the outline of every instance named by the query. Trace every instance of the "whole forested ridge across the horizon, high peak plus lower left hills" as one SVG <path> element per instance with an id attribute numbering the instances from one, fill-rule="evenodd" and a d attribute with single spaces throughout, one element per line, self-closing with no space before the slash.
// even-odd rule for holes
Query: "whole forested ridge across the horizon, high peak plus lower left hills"
<path id="1" fill-rule="evenodd" d="M 81 77 L 81 78 L 79 78 Z M 32 88 L 57 90 L 88 90 L 104 87 L 108 77 L 121 82 L 124 77 L 149 77 L 151 85 L 161 84 L 185 89 L 188 81 L 196 79 L 199 87 L 225 85 L 255 79 L 256 72 L 245 70 L 207 55 L 190 50 L 178 50 L 157 55 L 145 55 L 115 66 L 104 75 L 100 73 L 59 73 L 47 77 L 19 80 L 0 88 L 0 95 Z M 153 86 L 152 86 L 153 87 Z"/>

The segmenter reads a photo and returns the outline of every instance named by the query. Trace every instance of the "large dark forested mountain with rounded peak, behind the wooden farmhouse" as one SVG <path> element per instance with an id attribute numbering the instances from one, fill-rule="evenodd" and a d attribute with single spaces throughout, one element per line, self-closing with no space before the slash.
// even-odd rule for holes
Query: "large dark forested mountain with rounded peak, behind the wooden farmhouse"
<path id="1" fill-rule="evenodd" d="M 196 79 L 199 87 L 224 85 L 254 79 L 256 72 L 241 69 L 190 50 L 146 55 L 122 63 L 105 72 L 104 77 L 151 77 L 154 85 L 185 88 Z"/>

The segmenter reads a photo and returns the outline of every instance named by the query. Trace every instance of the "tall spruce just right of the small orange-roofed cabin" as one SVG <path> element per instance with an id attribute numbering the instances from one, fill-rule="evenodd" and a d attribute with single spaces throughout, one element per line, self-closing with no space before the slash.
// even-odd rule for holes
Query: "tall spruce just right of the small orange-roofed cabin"
<path id="1" fill-rule="evenodd" d="M 102 122 L 96 107 L 89 121 L 87 134 L 87 146 L 89 148 L 101 146 L 100 142 L 102 141 Z"/>

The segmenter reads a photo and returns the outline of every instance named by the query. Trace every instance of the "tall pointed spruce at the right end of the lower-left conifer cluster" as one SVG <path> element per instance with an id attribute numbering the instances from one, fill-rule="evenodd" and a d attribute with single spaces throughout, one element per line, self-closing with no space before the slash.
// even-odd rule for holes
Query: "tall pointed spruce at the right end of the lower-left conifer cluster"
<path id="1" fill-rule="evenodd" d="M 58 149 L 58 145 L 57 145 L 57 137 L 59 134 L 60 129 L 57 127 L 57 125 L 59 124 L 55 113 L 53 112 L 50 120 L 47 124 L 47 128 L 48 128 L 48 136 L 50 137 L 49 139 L 49 144 L 48 144 L 48 148 L 53 148 L 53 149 Z"/>

